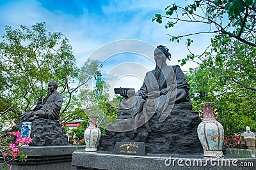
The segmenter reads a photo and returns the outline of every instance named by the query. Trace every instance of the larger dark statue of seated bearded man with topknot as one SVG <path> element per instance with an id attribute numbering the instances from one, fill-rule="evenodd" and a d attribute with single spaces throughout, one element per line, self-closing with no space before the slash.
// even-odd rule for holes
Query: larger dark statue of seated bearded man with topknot
<path id="1" fill-rule="evenodd" d="M 189 101 L 190 87 L 186 76 L 179 66 L 166 64 L 166 60 L 170 60 L 171 56 L 168 51 L 169 49 L 163 45 L 157 46 L 154 51 L 156 68 L 146 73 L 143 85 L 138 92 L 130 96 L 128 94 L 128 97 L 127 92 L 126 94 L 120 92 L 124 99 L 119 104 L 118 119 L 127 120 L 117 120 L 116 124 L 108 125 L 109 131 L 131 130 L 131 124 L 134 124 L 136 129 L 145 123 L 150 131 L 147 121 L 154 113 L 157 113 L 159 122 L 163 122 L 175 103 Z"/>

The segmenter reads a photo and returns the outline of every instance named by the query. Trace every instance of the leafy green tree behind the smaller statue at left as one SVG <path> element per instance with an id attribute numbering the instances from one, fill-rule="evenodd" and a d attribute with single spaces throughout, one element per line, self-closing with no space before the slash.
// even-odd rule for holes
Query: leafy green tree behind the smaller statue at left
<path id="1" fill-rule="evenodd" d="M 38 96 L 46 95 L 50 81 L 59 84 L 64 99 L 61 120 L 76 119 L 71 110 L 79 106 L 77 91 L 93 77 L 99 62 L 87 60 L 77 67 L 68 39 L 61 32 L 47 31 L 44 22 L 31 28 L 6 26 L 5 31 L 0 42 L 0 121 L 17 120 L 31 110 Z"/>

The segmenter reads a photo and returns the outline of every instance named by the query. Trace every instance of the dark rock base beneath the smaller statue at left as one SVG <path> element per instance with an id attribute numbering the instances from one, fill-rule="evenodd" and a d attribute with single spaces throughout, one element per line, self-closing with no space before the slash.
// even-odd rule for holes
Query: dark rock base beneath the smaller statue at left
<path id="1" fill-rule="evenodd" d="M 21 126 L 22 122 L 16 122 L 16 129 L 21 131 Z M 33 120 L 31 138 L 34 139 L 29 146 L 68 145 L 68 137 L 63 134 L 63 127 L 61 127 L 61 122 L 59 120 L 49 120 L 44 118 Z"/>

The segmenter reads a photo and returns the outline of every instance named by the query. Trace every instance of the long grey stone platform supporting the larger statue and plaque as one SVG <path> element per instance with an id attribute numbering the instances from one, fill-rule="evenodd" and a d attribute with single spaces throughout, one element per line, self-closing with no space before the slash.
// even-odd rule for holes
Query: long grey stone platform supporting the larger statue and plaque
<path id="1" fill-rule="evenodd" d="M 111 152 L 84 152 L 76 150 L 72 154 L 72 166 L 81 169 L 109 170 L 150 170 L 150 169 L 255 169 L 256 159 L 248 150 L 227 150 L 222 159 L 207 158 L 202 154 L 147 154 L 117 155 Z"/>

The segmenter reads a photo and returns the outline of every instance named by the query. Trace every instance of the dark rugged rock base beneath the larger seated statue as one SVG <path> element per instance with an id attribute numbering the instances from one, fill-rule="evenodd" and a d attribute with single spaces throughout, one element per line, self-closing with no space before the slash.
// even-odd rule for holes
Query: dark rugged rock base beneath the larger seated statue
<path id="1" fill-rule="evenodd" d="M 113 151 L 117 141 L 136 141 L 145 143 L 147 153 L 203 153 L 197 135 L 200 122 L 198 112 L 192 110 L 190 103 L 175 104 L 164 122 L 159 122 L 156 114 L 150 118 L 152 132 L 147 132 L 145 125 L 138 128 L 138 134 L 106 131 L 99 150 Z"/>

